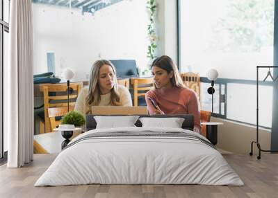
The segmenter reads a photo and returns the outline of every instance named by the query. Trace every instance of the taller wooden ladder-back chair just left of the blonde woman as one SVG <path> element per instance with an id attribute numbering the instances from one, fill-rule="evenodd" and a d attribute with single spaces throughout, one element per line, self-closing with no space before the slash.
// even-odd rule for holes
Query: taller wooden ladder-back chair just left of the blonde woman
<path id="1" fill-rule="evenodd" d="M 70 105 L 74 106 L 77 96 L 82 88 L 82 82 L 70 83 Z M 48 109 L 51 107 L 67 107 L 67 84 L 40 84 L 40 91 L 44 96 L 44 130 L 48 133 L 52 132 L 50 128 L 50 119 Z"/>

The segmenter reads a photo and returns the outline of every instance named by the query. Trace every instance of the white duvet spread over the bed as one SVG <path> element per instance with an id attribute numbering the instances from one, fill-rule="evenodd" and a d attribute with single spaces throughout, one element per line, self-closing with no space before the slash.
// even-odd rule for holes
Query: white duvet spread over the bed
<path id="1" fill-rule="evenodd" d="M 213 147 L 179 137 L 108 137 L 78 141 L 101 132 L 184 132 L 165 127 L 94 129 L 74 138 L 35 186 L 101 184 L 204 184 L 243 186 L 243 181 Z M 74 142 L 76 142 L 74 144 Z"/>

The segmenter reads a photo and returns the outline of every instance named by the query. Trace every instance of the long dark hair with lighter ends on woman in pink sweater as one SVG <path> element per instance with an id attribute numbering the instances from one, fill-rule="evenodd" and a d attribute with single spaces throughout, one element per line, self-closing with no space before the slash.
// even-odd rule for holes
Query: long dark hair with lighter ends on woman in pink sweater
<path id="1" fill-rule="evenodd" d="M 170 73 L 171 71 L 173 71 L 174 75 L 172 78 L 170 78 L 170 82 L 172 84 L 172 86 L 174 87 L 186 87 L 183 84 L 183 81 L 181 80 L 181 76 L 179 75 L 179 70 L 178 67 L 174 64 L 174 62 L 172 61 L 172 59 L 167 56 L 167 55 L 163 55 L 161 57 L 157 57 L 154 62 L 152 62 L 152 66 L 157 66 L 161 69 L 164 69 L 167 71 L 167 73 Z M 154 87 L 156 87 L 156 85 L 154 84 Z"/>

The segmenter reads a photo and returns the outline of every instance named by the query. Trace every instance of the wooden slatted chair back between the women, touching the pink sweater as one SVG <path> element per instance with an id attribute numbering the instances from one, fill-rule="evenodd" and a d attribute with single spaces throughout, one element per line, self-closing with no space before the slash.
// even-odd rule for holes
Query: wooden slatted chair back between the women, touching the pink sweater
<path id="1" fill-rule="evenodd" d="M 154 88 L 153 78 L 134 78 L 131 79 L 133 84 L 133 106 L 138 106 L 138 97 L 145 97 L 145 93 Z"/>

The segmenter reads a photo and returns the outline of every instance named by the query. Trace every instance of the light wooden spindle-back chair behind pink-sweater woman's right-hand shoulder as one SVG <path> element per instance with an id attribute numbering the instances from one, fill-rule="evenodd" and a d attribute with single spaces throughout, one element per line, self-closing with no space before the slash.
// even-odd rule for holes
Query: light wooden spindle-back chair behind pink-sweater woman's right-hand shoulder
<path id="1" fill-rule="evenodd" d="M 200 100 L 201 82 L 200 82 L 199 73 L 193 73 L 193 72 L 181 73 L 181 79 L 183 80 L 183 84 L 186 85 L 186 87 L 193 89 L 197 93 Z"/>

